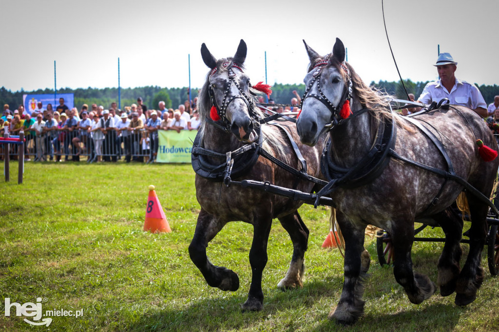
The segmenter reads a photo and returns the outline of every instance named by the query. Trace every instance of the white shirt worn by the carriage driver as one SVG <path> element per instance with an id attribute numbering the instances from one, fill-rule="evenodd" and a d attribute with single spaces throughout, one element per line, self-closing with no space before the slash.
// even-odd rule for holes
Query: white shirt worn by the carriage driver
<path id="1" fill-rule="evenodd" d="M 438 103 L 442 99 L 448 98 L 453 105 L 462 105 L 471 109 L 477 107 L 487 108 L 484 97 L 482 97 L 480 90 L 475 85 L 456 78 L 456 82 L 449 93 L 440 81 L 428 83 L 418 100 L 430 104 L 432 101 Z"/>

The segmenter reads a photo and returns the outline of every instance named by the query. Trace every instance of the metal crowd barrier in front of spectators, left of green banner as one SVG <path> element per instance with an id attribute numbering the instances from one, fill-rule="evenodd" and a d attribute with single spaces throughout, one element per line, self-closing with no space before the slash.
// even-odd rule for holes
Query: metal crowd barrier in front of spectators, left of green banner
<path id="1" fill-rule="evenodd" d="M 124 159 L 126 162 L 151 162 L 155 155 L 151 154 L 151 138 L 145 129 L 121 133 L 109 131 L 102 140 L 96 140 L 87 132 L 53 131 L 37 137 L 25 132 L 25 159 L 35 161 L 86 161 L 93 163 L 98 160 L 116 162 Z M 5 146 L 2 147 L 5 149 Z M 157 145 L 156 145 L 157 149 Z M 9 145 L 9 155 L 17 159 L 18 146 Z M 152 159 L 151 159 L 152 157 Z"/>

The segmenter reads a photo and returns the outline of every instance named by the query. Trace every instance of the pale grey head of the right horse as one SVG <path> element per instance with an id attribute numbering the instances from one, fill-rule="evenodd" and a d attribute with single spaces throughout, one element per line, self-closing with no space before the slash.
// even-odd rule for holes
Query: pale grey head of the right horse
<path id="1" fill-rule="evenodd" d="M 319 56 L 305 41 L 310 59 L 308 72 L 303 80 L 305 93 L 301 100 L 301 113 L 296 129 L 301 143 L 314 146 L 321 134 L 341 123 L 340 110 L 352 97 L 350 73 L 345 64 L 345 47 L 336 38 L 333 52 Z"/>

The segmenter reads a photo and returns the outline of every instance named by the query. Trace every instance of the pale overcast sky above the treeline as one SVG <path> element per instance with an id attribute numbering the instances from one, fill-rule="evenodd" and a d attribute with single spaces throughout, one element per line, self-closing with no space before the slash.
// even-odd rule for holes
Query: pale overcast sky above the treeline
<path id="1" fill-rule="evenodd" d="M 437 45 L 457 61 L 456 76 L 499 83 L 498 0 L 385 0 L 388 35 L 404 79 L 438 78 Z M 308 58 L 339 37 L 366 81 L 398 80 L 383 27 L 381 0 L 166 1 L 0 0 L 0 86 L 17 91 L 158 85 L 201 87 L 208 68 L 200 47 L 232 56 L 248 45 L 253 83 L 301 83 Z"/>

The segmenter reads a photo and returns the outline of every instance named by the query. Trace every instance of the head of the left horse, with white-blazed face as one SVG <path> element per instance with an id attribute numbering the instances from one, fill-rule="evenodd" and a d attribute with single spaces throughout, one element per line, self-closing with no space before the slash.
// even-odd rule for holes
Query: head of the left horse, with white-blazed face
<path id="1" fill-rule="evenodd" d="M 210 53 L 205 43 L 201 46 L 203 61 L 212 70 L 205 84 L 211 112 L 206 112 L 205 116 L 221 122 L 238 140 L 250 142 L 254 139 L 251 133 L 256 113 L 253 97 L 250 95 L 250 79 L 243 71 L 246 53 L 247 47 L 243 39 L 234 57 L 219 60 Z"/>

